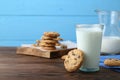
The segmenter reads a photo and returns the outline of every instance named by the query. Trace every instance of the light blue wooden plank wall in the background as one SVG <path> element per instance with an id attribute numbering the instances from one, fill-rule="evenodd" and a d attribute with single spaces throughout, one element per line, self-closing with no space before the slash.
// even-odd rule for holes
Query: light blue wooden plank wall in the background
<path id="1" fill-rule="evenodd" d="M 0 46 L 34 43 L 45 31 L 76 41 L 75 25 L 98 23 L 95 9 L 120 10 L 120 0 L 0 0 Z"/>

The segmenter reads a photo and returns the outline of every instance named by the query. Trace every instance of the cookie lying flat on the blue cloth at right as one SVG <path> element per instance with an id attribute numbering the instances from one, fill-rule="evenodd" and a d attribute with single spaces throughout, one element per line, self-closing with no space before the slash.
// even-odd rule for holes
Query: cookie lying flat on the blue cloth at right
<path id="1" fill-rule="evenodd" d="M 104 61 L 107 66 L 120 66 L 120 59 L 109 58 Z"/>

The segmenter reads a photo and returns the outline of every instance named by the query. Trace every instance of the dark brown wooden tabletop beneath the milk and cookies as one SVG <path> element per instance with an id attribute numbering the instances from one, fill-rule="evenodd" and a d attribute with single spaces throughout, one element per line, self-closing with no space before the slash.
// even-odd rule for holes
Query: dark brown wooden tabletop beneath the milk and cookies
<path id="1" fill-rule="evenodd" d="M 120 73 L 68 73 L 61 59 L 17 55 L 16 47 L 0 47 L 0 80 L 120 80 Z"/>

